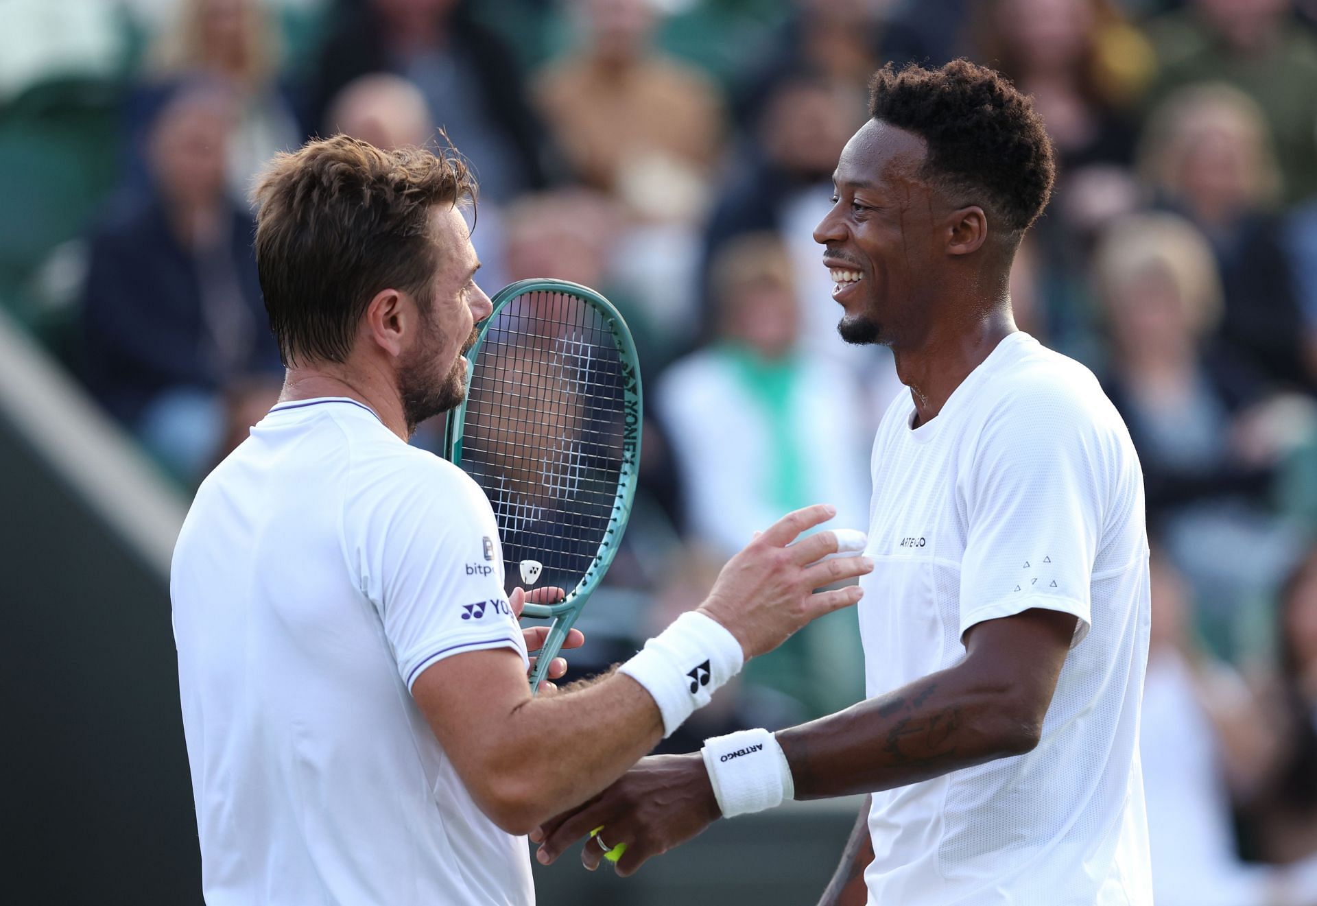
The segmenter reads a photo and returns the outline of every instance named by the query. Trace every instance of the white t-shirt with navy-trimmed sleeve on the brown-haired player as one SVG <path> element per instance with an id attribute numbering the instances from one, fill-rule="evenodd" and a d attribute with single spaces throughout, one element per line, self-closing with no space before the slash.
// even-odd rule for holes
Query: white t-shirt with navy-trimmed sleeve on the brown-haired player
<path id="1" fill-rule="evenodd" d="M 525 645 L 489 502 L 349 399 L 277 406 L 174 550 L 183 728 L 209 906 L 535 901 L 410 689 Z"/>

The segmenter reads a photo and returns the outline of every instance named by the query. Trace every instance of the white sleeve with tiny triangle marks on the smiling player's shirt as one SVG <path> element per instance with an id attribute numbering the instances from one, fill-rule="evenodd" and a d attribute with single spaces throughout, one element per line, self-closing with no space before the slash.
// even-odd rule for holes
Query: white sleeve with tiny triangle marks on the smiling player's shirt
<path id="1" fill-rule="evenodd" d="M 988 417 L 961 489 L 960 635 L 1040 607 L 1092 626 L 1106 481 L 1096 413 L 1059 390 L 1017 394 Z"/>

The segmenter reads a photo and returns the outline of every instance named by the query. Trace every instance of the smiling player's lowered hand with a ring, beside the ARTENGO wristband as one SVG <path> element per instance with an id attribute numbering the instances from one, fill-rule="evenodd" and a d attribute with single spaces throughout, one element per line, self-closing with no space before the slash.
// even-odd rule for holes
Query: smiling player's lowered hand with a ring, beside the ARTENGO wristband
<path id="1" fill-rule="evenodd" d="M 622 778 L 583 806 L 545 822 L 531 839 L 540 843 L 536 859 L 553 863 L 576 840 L 603 826 L 581 851 L 581 864 L 591 872 L 603 859 L 601 838 L 608 847 L 626 843 L 618 874 L 626 877 L 651 856 L 668 852 L 702 832 L 719 818 L 714 787 L 699 755 L 658 755 L 641 759 Z"/>

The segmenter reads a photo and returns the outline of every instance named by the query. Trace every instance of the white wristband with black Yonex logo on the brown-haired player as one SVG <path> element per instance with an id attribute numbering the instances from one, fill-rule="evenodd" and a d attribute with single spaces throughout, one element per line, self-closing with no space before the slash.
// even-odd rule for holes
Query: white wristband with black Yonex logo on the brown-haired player
<path id="1" fill-rule="evenodd" d="M 736 636 L 697 611 L 682 614 L 618 670 L 653 695 L 670 736 L 714 691 L 740 673 L 745 653 Z"/>

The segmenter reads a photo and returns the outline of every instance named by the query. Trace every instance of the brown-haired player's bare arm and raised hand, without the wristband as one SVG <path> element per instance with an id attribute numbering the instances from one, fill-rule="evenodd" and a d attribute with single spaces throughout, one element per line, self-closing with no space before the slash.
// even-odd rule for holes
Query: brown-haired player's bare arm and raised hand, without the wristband
<path id="1" fill-rule="evenodd" d="M 831 532 L 790 544 L 830 515 L 831 508 L 809 507 L 766 529 L 727 564 L 701 606 L 747 658 L 859 600 L 855 586 L 814 589 L 867 573 L 872 561 L 818 562 L 838 549 Z M 599 793 L 651 751 L 664 730 L 653 698 L 622 673 L 532 698 L 520 658 L 506 648 L 439 661 L 417 677 L 412 697 L 475 803 L 512 834 Z"/>

